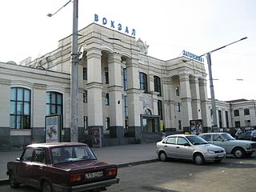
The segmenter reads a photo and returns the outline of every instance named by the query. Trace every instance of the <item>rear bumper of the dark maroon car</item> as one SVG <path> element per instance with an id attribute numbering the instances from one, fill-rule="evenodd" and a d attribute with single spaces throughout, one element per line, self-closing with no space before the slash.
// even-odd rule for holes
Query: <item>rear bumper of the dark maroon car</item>
<path id="1" fill-rule="evenodd" d="M 60 185 L 53 185 L 54 191 L 56 192 L 79 192 L 79 191 L 85 191 L 85 190 L 94 190 L 94 189 L 100 189 L 104 188 L 106 186 L 111 186 L 113 184 L 116 184 L 119 182 L 119 178 L 112 178 L 108 179 L 106 181 L 100 181 L 100 182 L 91 182 L 86 183 L 84 185 L 79 186 L 60 186 Z"/>

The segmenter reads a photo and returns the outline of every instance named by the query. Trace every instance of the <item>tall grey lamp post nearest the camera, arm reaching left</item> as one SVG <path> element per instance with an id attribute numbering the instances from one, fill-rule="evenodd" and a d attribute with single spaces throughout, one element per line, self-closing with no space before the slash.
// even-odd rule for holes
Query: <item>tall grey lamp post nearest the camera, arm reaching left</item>
<path id="1" fill-rule="evenodd" d="M 66 2 L 64 6 L 69 4 Z M 59 10 L 62 10 L 62 6 Z M 54 14 L 47 14 L 48 17 Z M 73 33 L 70 73 L 70 142 L 78 142 L 78 0 L 73 1 Z"/>

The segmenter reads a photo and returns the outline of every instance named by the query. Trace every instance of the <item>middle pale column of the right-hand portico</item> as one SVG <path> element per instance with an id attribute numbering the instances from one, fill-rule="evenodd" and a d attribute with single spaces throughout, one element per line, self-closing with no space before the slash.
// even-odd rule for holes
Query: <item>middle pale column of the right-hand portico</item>
<path id="1" fill-rule="evenodd" d="M 192 99 L 192 115 L 193 119 L 201 119 L 201 107 L 200 107 L 200 95 L 199 95 L 199 84 L 198 78 L 191 78 L 190 87 L 191 87 L 191 99 Z"/>

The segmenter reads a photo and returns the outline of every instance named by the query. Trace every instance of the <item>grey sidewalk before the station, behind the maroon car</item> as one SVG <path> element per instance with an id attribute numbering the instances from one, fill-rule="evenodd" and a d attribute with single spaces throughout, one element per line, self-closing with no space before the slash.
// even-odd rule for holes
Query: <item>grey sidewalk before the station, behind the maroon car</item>
<path id="1" fill-rule="evenodd" d="M 92 150 L 99 161 L 114 163 L 118 167 L 133 166 L 158 160 L 155 153 L 155 143 L 107 146 L 92 148 Z M 22 150 L 0 151 L 0 185 L 8 182 L 6 175 L 7 162 L 15 160 L 21 154 Z"/>

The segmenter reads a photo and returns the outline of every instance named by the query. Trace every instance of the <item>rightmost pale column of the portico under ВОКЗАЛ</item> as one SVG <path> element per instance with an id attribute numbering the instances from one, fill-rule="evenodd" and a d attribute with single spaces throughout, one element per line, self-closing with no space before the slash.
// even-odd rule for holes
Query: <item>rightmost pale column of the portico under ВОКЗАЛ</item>
<path id="1" fill-rule="evenodd" d="M 128 96 L 128 132 L 134 134 L 136 138 L 142 138 L 141 114 L 139 95 L 139 77 L 136 67 L 138 59 L 130 58 L 127 60 L 127 96 Z"/>

